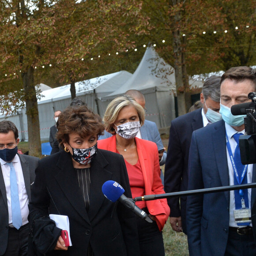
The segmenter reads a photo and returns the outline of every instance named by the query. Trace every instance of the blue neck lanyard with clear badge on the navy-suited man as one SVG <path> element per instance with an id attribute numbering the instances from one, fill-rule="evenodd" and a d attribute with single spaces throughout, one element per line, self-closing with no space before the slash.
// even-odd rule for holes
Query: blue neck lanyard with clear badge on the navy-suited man
<path id="1" fill-rule="evenodd" d="M 237 183 L 240 185 L 245 175 L 247 175 L 246 170 L 248 165 L 245 165 L 242 175 L 241 177 L 239 177 L 227 135 L 226 135 L 226 145 L 229 152 L 230 161 L 234 170 L 234 178 L 237 179 Z M 251 209 L 245 206 L 244 192 L 242 189 L 239 190 L 239 195 L 241 196 L 242 207 L 240 209 L 234 210 L 234 217 L 235 217 L 235 222 L 241 225 L 242 223 L 252 222 L 252 218 L 251 218 Z"/>

